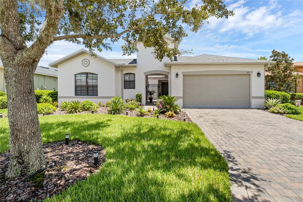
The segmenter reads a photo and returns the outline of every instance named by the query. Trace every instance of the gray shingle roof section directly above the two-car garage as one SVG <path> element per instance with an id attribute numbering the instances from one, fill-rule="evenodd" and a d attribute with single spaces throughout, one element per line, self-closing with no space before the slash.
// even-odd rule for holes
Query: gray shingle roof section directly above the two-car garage
<path id="1" fill-rule="evenodd" d="M 178 61 L 173 62 L 266 62 L 269 60 L 246 59 L 228 56 L 199 55 L 199 56 L 177 56 Z"/>

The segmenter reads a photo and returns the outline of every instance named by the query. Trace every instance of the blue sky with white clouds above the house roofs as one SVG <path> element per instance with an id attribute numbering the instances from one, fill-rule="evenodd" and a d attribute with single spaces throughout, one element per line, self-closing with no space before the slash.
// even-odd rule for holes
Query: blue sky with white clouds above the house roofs
<path id="1" fill-rule="evenodd" d="M 220 56 L 257 59 L 269 57 L 272 49 L 285 51 L 296 61 L 303 61 L 303 1 L 245 1 L 225 0 L 228 9 L 235 13 L 228 19 L 210 18 L 198 33 L 188 33 L 179 49 L 193 49 L 193 55 L 212 54 Z M 199 4 L 190 0 L 189 8 Z M 97 52 L 105 58 L 136 58 L 122 56 L 123 41 L 112 45 L 112 51 Z M 83 45 L 57 41 L 48 47 L 39 62 L 48 66 Z"/>

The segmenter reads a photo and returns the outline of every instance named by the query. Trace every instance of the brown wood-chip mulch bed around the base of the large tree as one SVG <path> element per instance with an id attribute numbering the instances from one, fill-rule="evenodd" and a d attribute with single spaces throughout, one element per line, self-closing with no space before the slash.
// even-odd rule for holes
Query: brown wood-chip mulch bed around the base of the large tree
<path id="1" fill-rule="evenodd" d="M 22 184 L 23 177 L 5 179 L 9 165 L 9 152 L 0 154 L 0 201 L 43 200 L 53 196 L 78 181 L 95 174 L 105 161 L 105 150 L 100 145 L 89 145 L 79 140 L 43 144 L 47 165 L 55 166 L 46 169 Z M 93 164 L 93 151 L 98 151 L 99 165 Z M 38 178 L 40 177 L 40 179 Z"/>

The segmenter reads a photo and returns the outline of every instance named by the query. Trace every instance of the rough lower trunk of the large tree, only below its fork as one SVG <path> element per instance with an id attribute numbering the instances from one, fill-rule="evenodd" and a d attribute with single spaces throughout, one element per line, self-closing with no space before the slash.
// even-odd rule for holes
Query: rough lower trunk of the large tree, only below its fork
<path id="1" fill-rule="evenodd" d="M 7 177 L 26 176 L 45 166 L 34 91 L 38 62 L 18 66 L 3 61 L 8 97 L 10 164 Z"/>

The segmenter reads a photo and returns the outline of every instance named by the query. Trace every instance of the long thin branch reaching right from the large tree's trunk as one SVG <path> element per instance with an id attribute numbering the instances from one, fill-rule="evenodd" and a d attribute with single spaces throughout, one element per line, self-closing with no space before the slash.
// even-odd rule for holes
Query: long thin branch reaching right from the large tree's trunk
<path id="1" fill-rule="evenodd" d="M 154 15 L 156 14 L 156 12 L 154 12 L 152 15 L 150 15 L 145 21 L 143 21 L 141 24 L 126 29 L 123 32 L 120 32 L 118 34 L 109 34 L 109 35 L 86 35 L 86 34 L 69 34 L 69 35 L 63 35 L 63 36 L 55 36 L 53 38 L 52 41 L 59 41 L 59 40 L 64 40 L 64 39 L 71 39 L 71 38 L 82 38 L 82 39 L 104 39 L 104 38 L 115 38 L 115 37 L 119 37 L 123 34 L 125 34 L 126 32 L 130 32 L 134 29 L 138 29 L 139 27 L 141 27 L 142 25 L 144 25 L 146 22 L 148 22 L 151 18 L 154 17 Z"/>

